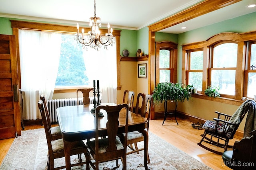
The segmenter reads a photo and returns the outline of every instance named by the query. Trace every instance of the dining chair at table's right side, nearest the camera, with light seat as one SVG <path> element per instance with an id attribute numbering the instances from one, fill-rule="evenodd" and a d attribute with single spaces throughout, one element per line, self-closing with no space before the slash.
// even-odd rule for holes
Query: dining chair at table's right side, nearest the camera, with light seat
<path id="1" fill-rule="evenodd" d="M 137 96 L 137 101 L 136 101 L 136 108 L 135 108 L 135 113 L 139 114 L 142 117 L 145 117 L 148 119 L 147 122 L 147 129 L 149 128 L 149 117 L 150 117 L 150 111 L 151 111 L 151 99 L 152 97 L 148 94 L 142 94 L 139 93 Z M 140 101 L 142 100 L 142 101 Z M 120 135 L 119 135 L 120 136 Z M 120 136 L 121 139 L 123 139 L 124 134 Z M 138 131 L 133 131 L 133 132 L 128 132 L 127 134 L 127 146 L 132 150 L 130 152 L 127 152 L 127 154 L 132 154 L 132 153 L 139 153 L 139 151 L 144 150 L 144 148 L 138 149 L 138 142 L 144 141 L 144 137 L 142 133 Z M 134 144 L 134 147 L 132 146 Z M 147 154 L 147 160 L 148 163 L 150 163 L 150 158 L 149 155 Z"/>

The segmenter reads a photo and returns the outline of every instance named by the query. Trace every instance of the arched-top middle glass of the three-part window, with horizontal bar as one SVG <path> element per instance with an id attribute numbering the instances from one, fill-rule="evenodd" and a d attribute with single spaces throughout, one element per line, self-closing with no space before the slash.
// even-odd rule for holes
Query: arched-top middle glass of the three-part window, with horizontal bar
<path id="1" fill-rule="evenodd" d="M 220 88 L 220 94 L 235 95 L 237 43 L 220 43 L 213 46 L 210 85 Z"/>

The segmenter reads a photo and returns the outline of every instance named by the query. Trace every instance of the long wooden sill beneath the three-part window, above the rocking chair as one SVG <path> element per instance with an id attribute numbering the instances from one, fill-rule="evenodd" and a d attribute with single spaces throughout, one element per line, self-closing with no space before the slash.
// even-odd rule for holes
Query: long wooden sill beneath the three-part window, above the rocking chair
<path id="1" fill-rule="evenodd" d="M 208 97 L 201 93 L 192 94 L 192 98 L 200 98 L 204 100 L 211 100 L 214 102 L 220 102 L 220 103 L 231 104 L 236 106 L 240 106 L 244 102 L 243 100 L 234 100 L 234 99 L 224 98 L 224 97 L 216 97 L 216 98 Z"/>

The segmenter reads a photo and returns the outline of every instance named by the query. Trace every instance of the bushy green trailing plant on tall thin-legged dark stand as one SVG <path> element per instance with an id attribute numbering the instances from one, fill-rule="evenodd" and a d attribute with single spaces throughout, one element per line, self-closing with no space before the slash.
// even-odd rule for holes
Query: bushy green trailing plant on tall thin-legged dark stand
<path id="1" fill-rule="evenodd" d="M 188 101 L 191 98 L 191 92 L 188 90 L 188 88 L 186 88 L 186 85 L 182 83 L 161 82 L 155 87 L 152 98 L 156 104 L 164 101 L 164 121 L 166 120 L 166 115 L 169 114 L 167 113 L 167 100 L 176 102 L 174 111 L 176 120 L 176 109 L 178 102 L 184 102 L 185 100 Z M 164 125 L 164 121 L 162 125 Z M 176 123 L 178 124 L 177 120 Z"/>

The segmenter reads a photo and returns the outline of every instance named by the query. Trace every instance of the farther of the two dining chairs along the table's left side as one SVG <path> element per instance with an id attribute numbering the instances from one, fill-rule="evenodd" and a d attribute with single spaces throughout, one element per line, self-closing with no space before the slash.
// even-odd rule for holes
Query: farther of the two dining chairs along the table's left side
<path id="1" fill-rule="evenodd" d="M 45 109 L 45 113 L 46 113 L 46 117 L 47 117 L 47 123 L 51 129 L 52 140 L 55 141 L 56 139 L 62 139 L 62 133 L 60 132 L 60 126 L 52 127 L 50 115 L 48 112 L 48 106 L 46 104 L 46 100 L 45 100 L 45 97 L 43 94 L 40 95 L 40 99 L 43 101 L 43 104 L 44 104 L 44 109 Z"/>

